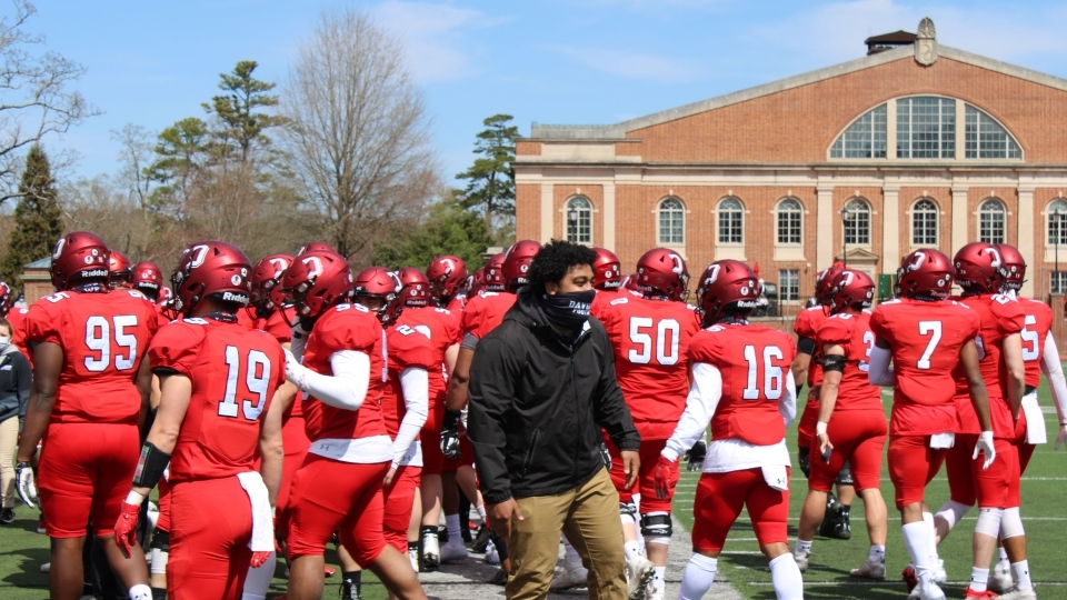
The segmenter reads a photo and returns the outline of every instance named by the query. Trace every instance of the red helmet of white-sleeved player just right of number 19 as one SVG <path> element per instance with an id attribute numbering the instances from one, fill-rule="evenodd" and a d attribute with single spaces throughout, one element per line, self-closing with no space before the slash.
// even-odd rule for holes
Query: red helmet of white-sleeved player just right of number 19
<path id="1" fill-rule="evenodd" d="M 337 252 L 306 252 L 281 276 L 281 293 L 299 317 L 315 319 L 350 298 L 352 270 Z"/>

